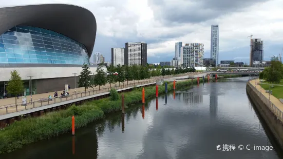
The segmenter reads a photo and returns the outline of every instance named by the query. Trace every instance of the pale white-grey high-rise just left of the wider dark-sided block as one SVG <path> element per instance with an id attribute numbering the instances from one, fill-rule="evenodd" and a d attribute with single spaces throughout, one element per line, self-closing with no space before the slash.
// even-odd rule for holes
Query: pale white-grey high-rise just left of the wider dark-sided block
<path id="1" fill-rule="evenodd" d="M 123 66 L 125 58 L 125 49 L 124 48 L 111 48 L 111 64 L 113 66 Z"/>

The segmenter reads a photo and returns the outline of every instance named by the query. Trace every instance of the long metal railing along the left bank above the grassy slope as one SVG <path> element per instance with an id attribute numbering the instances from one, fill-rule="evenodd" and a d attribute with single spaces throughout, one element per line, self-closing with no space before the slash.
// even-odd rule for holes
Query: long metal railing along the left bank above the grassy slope
<path id="1" fill-rule="evenodd" d="M 4 105 L 4 106 L 0 106 L 0 115 L 9 114 L 9 113 L 18 112 L 18 111 L 27 110 L 27 109 L 33 109 L 33 108 L 36 108 L 36 107 L 42 107 L 42 106 L 60 103 L 60 102 L 65 102 L 65 101 L 69 101 L 69 100 L 74 100 L 76 98 L 81 98 L 81 97 L 85 97 L 85 96 L 109 92 L 112 88 L 115 88 L 116 90 L 123 89 L 123 88 L 129 88 L 129 87 L 133 87 L 133 86 L 137 86 L 137 85 L 155 83 L 155 82 L 157 82 L 161 79 L 166 79 L 168 77 L 179 77 L 179 76 L 185 76 L 185 75 L 188 75 L 188 74 L 189 73 L 182 73 L 182 74 L 176 74 L 176 75 L 164 75 L 164 76 L 153 77 L 153 78 L 151 78 L 147 81 L 143 81 L 143 82 L 135 82 L 135 83 L 130 83 L 130 84 L 121 84 L 120 86 L 114 85 L 112 87 L 105 87 L 105 88 L 101 88 L 101 89 L 92 89 L 92 90 L 80 91 L 80 92 L 76 92 L 76 93 L 70 93 L 68 96 L 41 98 L 41 99 L 37 99 L 37 100 L 32 100 L 32 102 L 27 101 L 27 104 L 25 104 L 25 105 L 23 105 L 22 103 L 16 103 L 16 104 L 14 103 L 14 104 L 9 104 L 9 105 Z"/>

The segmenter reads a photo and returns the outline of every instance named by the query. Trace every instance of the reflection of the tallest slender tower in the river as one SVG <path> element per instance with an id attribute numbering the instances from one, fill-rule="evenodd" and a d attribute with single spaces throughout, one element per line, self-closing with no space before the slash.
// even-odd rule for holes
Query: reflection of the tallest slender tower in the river
<path id="1" fill-rule="evenodd" d="M 210 85 L 210 116 L 216 118 L 218 105 L 218 92 L 216 85 Z"/>

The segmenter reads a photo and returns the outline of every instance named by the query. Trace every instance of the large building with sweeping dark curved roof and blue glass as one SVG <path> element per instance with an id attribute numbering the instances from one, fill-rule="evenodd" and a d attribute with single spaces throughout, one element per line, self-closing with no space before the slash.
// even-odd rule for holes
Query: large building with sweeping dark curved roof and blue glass
<path id="1" fill-rule="evenodd" d="M 23 95 L 30 95 L 63 90 L 67 84 L 73 88 L 74 73 L 78 81 L 82 65 L 90 64 L 97 24 L 95 16 L 83 7 L 3 7 L 0 22 L 0 98 L 14 69 L 24 80 Z M 97 66 L 89 67 L 96 73 Z"/>

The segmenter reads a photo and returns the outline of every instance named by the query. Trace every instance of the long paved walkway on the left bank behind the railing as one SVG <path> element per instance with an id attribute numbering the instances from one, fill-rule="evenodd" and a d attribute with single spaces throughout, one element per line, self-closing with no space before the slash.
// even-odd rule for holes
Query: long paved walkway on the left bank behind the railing
<path id="1" fill-rule="evenodd" d="M 146 81 L 149 81 L 149 80 L 155 80 L 155 79 L 161 79 L 161 78 L 165 79 L 165 78 L 185 76 L 185 75 L 188 75 L 188 74 L 194 74 L 195 75 L 195 74 L 200 74 L 200 73 L 199 72 L 195 72 L 195 73 L 183 73 L 183 74 L 177 74 L 177 75 L 166 75 L 164 77 L 163 76 L 152 77 L 150 79 L 144 79 L 144 80 L 142 80 L 142 82 L 146 82 Z M 128 82 L 129 85 L 127 87 L 133 86 L 134 84 L 135 85 L 139 85 L 139 84 L 141 84 L 140 82 L 141 81 L 129 81 Z M 111 84 L 111 87 L 115 87 L 115 85 L 117 86 L 116 89 L 119 89 L 119 87 L 118 87 L 119 83 Z M 127 85 L 127 82 L 120 83 L 120 88 L 125 88 L 126 85 Z M 105 86 L 100 86 L 100 92 L 103 92 L 103 91 L 105 92 L 105 88 L 108 91 L 109 88 L 110 88 L 110 84 L 106 84 Z M 75 89 L 69 89 L 69 94 L 70 95 L 74 94 L 74 90 Z M 95 90 L 95 94 L 96 94 L 97 91 L 99 92 L 99 86 L 97 86 L 95 88 L 88 88 L 86 91 L 92 91 L 92 90 Z M 59 96 L 61 95 L 61 92 L 63 93 L 63 90 L 59 90 L 58 91 L 58 95 Z M 82 87 L 81 88 L 76 88 L 76 94 L 79 94 L 79 96 L 80 96 L 81 93 L 82 93 L 82 96 L 84 96 L 84 94 L 85 94 L 84 92 L 85 92 L 84 88 L 82 88 Z M 49 95 L 51 95 L 53 97 L 53 94 L 54 94 L 54 92 L 42 93 L 42 94 L 34 94 L 34 95 L 32 95 L 32 101 L 39 101 L 41 98 L 47 98 Z M 74 97 L 74 95 L 73 95 L 73 97 Z M 77 95 L 76 95 L 76 97 L 77 97 Z M 27 103 L 29 103 L 30 102 L 30 96 L 26 96 L 26 98 L 27 98 Z M 47 103 L 47 102 L 45 102 L 45 103 Z M 17 99 L 17 105 L 21 105 L 21 104 L 22 104 L 22 97 Z M 6 99 L 0 99 L 0 108 L 6 107 L 8 105 L 15 105 L 15 97 L 6 98 Z M 0 109 L 0 111 L 1 110 L 2 109 Z"/>

